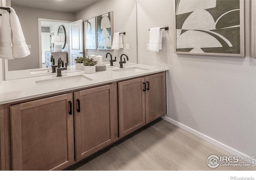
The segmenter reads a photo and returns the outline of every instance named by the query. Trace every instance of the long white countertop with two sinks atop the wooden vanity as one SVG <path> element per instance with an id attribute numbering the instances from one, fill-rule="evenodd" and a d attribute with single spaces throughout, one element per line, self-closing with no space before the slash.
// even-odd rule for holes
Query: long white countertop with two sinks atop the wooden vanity
<path id="1" fill-rule="evenodd" d="M 46 76 L 6 80 L 0 84 L 0 104 L 106 84 L 167 70 L 168 68 L 132 64 L 124 66 L 124 68 L 107 68 L 106 71 L 92 74 L 85 74 L 84 71 L 69 73 L 63 73 L 62 71 L 62 76 L 60 77 L 57 77 L 56 73 L 52 73 Z"/>

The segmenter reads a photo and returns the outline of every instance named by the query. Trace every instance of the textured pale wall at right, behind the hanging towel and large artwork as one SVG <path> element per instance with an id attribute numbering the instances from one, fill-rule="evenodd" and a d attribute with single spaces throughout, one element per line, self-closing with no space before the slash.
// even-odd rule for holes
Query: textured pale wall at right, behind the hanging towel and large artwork
<path id="1" fill-rule="evenodd" d="M 174 1 L 137 0 L 138 62 L 169 68 L 166 119 L 223 143 L 230 152 L 233 148 L 233 154 L 248 156 L 256 154 L 256 60 L 250 57 L 250 8 L 245 0 L 245 58 L 181 55 L 174 54 Z M 163 49 L 147 51 L 148 29 L 159 26 L 169 26 L 163 32 Z"/>

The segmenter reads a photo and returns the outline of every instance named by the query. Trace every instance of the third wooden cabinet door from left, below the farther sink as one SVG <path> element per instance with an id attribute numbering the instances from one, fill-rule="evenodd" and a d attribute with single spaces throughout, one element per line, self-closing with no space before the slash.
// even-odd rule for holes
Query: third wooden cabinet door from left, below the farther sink
<path id="1" fill-rule="evenodd" d="M 145 125 L 144 78 L 118 82 L 119 132 L 123 137 Z"/>

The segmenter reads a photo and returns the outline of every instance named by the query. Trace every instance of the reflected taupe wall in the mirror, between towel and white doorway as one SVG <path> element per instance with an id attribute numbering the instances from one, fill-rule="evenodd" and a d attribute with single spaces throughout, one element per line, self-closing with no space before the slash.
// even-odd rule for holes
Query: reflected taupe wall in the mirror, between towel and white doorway
<path id="1" fill-rule="evenodd" d="M 39 68 L 38 18 L 74 21 L 75 15 L 74 13 L 40 10 L 22 6 L 13 5 L 12 7 L 19 17 L 26 43 L 31 45 L 31 54 L 25 58 L 8 60 L 8 69 L 11 71 Z"/>

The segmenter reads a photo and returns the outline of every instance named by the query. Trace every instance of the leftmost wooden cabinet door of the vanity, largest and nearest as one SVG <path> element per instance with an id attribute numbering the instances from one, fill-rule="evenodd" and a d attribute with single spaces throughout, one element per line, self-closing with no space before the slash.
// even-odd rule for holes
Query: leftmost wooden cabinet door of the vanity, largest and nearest
<path id="1" fill-rule="evenodd" d="M 69 93 L 10 106 L 13 170 L 74 164 L 72 100 Z"/>

